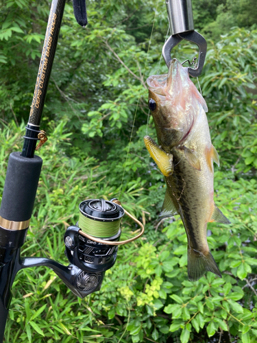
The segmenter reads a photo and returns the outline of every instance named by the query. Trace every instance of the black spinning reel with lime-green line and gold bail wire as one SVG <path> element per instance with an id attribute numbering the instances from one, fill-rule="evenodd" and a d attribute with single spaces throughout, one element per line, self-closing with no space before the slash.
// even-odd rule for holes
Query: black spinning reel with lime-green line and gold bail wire
<path id="1" fill-rule="evenodd" d="M 119 241 L 125 213 L 141 231 L 136 237 Z M 66 257 L 83 273 L 77 277 L 77 287 L 89 293 L 99 290 L 104 272 L 112 268 L 117 259 L 118 246 L 138 239 L 144 230 L 143 224 L 125 211 L 117 199 L 82 201 L 76 226 L 67 228 L 64 235 Z"/>

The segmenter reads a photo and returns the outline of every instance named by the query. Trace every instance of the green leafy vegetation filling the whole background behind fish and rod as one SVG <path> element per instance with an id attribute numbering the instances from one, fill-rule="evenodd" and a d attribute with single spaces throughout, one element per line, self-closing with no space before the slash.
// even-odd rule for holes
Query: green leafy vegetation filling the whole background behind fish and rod
<path id="1" fill-rule="evenodd" d="M 164 180 L 143 144 L 147 130 L 155 135 L 145 80 L 167 73 L 164 2 L 87 0 L 86 29 L 66 3 L 42 119 L 49 141 L 39 152 L 44 164 L 22 254 L 67 263 L 62 237 L 85 198 L 119 197 L 146 234 L 119 248 L 101 291 L 84 300 L 51 270 L 19 272 L 5 342 L 257 342 L 256 1 L 193 0 L 195 28 L 208 38 L 199 84 L 221 158 L 215 202 L 232 222 L 208 224 L 223 279 L 207 273 L 194 283 L 180 217 L 157 221 Z M 23 145 L 49 6 L 0 0 L 1 190 L 8 156 Z M 183 42 L 172 54 L 192 60 L 197 49 Z M 122 237 L 135 228 L 125 220 Z"/>

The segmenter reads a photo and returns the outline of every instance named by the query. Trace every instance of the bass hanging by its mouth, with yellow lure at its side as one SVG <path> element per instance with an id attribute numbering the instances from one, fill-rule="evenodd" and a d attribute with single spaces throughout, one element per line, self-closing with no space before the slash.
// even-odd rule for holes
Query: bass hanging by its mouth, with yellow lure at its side
<path id="1" fill-rule="evenodd" d="M 207 223 L 231 223 L 213 200 L 213 162 L 219 165 L 219 155 L 210 139 L 206 102 L 175 58 L 168 73 L 150 76 L 147 86 L 158 143 L 149 136 L 144 142 L 167 185 L 159 218 L 179 214 L 182 219 L 190 281 L 206 271 L 222 277 L 208 247 Z"/>

